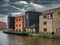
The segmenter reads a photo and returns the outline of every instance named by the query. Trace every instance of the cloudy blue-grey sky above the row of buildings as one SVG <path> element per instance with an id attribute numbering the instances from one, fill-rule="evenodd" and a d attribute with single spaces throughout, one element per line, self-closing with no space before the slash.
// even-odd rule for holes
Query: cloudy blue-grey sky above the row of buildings
<path id="1" fill-rule="evenodd" d="M 0 0 L 0 21 L 7 22 L 7 15 L 27 10 L 44 11 L 60 7 L 60 0 Z"/>

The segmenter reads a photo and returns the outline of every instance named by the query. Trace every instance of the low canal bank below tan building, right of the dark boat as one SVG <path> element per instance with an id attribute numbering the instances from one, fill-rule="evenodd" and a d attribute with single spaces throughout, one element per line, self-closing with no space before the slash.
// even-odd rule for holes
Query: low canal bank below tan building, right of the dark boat
<path id="1" fill-rule="evenodd" d="M 60 34 L 39 34 L 39 33 L 29 33 L 29 36 L 41 37 L 41 38 L 54 38 L 54 39 L 60 39 Z"/>

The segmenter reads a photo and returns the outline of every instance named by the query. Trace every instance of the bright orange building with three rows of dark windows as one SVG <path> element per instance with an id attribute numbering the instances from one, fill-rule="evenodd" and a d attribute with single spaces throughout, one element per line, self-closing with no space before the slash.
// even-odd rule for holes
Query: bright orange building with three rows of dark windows
<path id="1" fill-rule="evenodd" d="M 25 31 L 25 16 L 15 16 L 15 31 L 23 32 Z"/>

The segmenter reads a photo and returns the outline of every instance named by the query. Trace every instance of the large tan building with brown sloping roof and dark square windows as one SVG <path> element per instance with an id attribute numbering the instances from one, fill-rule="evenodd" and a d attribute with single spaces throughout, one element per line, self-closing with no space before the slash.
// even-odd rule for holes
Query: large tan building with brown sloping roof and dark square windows
<path id="1" fill-rule="evenodd" d="M 60 8 L 42 12 L 39 16 L 39 32 L 60 32 Z"/>

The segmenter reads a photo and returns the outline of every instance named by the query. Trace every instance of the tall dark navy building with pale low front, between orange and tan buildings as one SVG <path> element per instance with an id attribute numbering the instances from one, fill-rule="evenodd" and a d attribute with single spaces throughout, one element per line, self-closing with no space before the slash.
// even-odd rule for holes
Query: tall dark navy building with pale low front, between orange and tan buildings
<path id="1" fill-rule="evenodd" d="M 26 17 L 26 31 L 27 32 L 39 32 L 39 15 L 40 12 L 27 11 L 25 12 Z"/>

